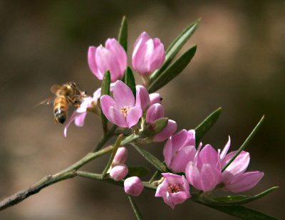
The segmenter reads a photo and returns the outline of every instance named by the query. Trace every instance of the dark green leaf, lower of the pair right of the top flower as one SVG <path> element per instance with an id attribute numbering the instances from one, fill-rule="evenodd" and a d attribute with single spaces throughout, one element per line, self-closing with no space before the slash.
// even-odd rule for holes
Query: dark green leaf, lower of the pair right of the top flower
<path id="1" fill-rule="evenodd" d="M 169 83 L 173 78 L 179 75 L 182 70 L 190 63 L 193 56 L 195 55 L 197 46 L 192 46 L 185 53 L 183 53 L 177 60 L 172 63 L 163 73 L 160 74 L 155 80 L 150 83 L 148 87 L 149 93 L 154 93 L 156 90 L 162 88 Z"/>

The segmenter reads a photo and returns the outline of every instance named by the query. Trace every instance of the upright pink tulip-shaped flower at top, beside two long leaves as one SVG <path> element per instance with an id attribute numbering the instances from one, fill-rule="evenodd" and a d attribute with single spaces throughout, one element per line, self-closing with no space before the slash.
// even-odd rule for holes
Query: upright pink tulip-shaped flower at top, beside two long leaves
<path id="1" fill-rule="evenodd" d="M 165 61 L 165 49 L 159 38 L 152 40 L 143 32 L 135 41 L 133 68 L 140 74 L 150 74 Z"/>

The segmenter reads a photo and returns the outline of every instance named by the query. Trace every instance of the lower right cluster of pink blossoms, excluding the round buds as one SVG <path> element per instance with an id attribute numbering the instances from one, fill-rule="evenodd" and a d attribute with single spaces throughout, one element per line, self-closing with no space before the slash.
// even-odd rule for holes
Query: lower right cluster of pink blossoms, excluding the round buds
<path id="1" fill-rule="evenodd" d="M 249 166 L 249 152 L 240 152 L 229 166 L 224 169 L 237 151 L 228 152 L 230 138 L 222 150 L 214 150 L 211 145 L 195 147 L 195 130 L 182 130 L 170 137 L 164 147 L 165 164 L 175 173 L 165 173 L 165 179 L 157 187 L 155 197 L 162 197 L 174 209 L 191 197 L 189 184 L 203 192 L 211 192 L 219 185 L 231 192 L 244 192 L 252 189 L 264 176 L 263 172 L 246 172 Z M 202 149 L 202 150 L 201 150 Z M 186 187 L 186 185 L 188 187 Z M 183 194 L 182 194 L 183 192 Z"/>

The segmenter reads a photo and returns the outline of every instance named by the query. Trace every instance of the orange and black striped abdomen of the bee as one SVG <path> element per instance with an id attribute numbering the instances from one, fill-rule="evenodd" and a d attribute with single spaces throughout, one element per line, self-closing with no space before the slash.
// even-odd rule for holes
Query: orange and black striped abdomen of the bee
<path id="1" fill-rule="evenodd" d="M 54 119 L 63 124 L 67 117 L 68 103 L 64 96 L 56 98 L 53 105 Z"/>

